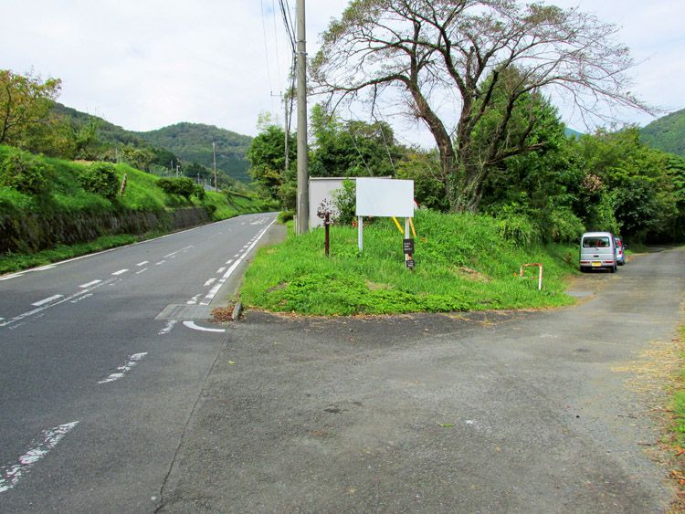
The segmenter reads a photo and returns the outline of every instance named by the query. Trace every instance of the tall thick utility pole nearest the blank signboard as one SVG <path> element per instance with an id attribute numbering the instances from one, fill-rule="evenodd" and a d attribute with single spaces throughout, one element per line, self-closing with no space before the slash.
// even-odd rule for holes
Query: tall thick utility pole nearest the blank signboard
<path id="1" fill-rule="evenodd" d="M 304 0 L 297 1 L 298 65 L 298 235 L 310 227 L 310 187 L 307 171 L 307 44 Z"/>

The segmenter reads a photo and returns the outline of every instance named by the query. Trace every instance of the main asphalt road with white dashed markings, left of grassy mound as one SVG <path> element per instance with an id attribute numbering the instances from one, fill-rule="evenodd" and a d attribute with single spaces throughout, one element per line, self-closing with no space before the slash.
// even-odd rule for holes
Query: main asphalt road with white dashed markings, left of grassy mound
<path id="1" fill-rule="evenodd" d="M 226 341 L 210 310 L 274 217 L 0 277 L 0 512 L 157 507 Z"/>

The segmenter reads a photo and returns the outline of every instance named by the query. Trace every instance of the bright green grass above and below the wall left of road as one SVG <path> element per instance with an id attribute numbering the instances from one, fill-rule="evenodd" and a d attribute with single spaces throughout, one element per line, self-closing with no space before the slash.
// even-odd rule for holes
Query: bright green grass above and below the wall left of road
<path id="1" fill-rule="evenodd" d="M 16 149 L 0 146 L 0 163 Z M 177 194 L 166 194 L 156 182 L 158 177 L 132 168 L 127 164 L 117 164 L 116 173 L 120 181 L 126 175 L 126 189 L 121 197 L 111 201 L 100 194 L 86 191 L 79 182 L 79 175 L 90 163 L 68 162 L 59 159 L 35 157 L 47 168 L 47 187 L 40 194 L 26 194 L 11 187 L 0 186 L 0 217 L 10 220 L 26 219 L 27 216 L 37 216 L 49 225 L 52 219 L 60 216 L 89 216 L 98 215 L 120 216 L 127 213 L 155 213 L 162 215 L 187 207 L 205 208 L 212 221 L 229 217 L 256 213 L 264 210 L 265 205 L 256 197 L 232 192 L 206 192 L 200 199 L 195 196 L 184 198 Z M 16 222 L 14 222 L 16 223 Z M 90 252 L 118 247 L 151 236 L 161 235 L 168 228 L 159 226 L 149 234 L 111 234 L 111 231 L 94 230 L 100 236 L 91 241 L 74 245 L 60 244 L 55 247 L 36 250 L 36 245 L 25 241 L 19 250 L 12 253 L 0 254 L 0 273 L 7 273 L 26 267 L 40 266 L 69 257 L 78 257 Z M 64 241 L 61 241 L 63 243 Z"/>

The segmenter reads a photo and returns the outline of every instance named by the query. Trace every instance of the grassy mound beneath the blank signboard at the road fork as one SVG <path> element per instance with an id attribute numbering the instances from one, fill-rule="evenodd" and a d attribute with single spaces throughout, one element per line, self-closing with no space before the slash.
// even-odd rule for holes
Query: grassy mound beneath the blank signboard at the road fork
<path id="1" fill-rule="evenodd" d="M 357 231 L 332 226 L 331 257 L 323 230 L 289 236 L 258 252 L 241 288 L 251 307 L 312 315 L 390 314 L 547 308 L 572 303 L 564 276 L 575 268 L 571 247 L 520 247 L 500 236 L 487 216 L 416 213 L 416 269 L 407 270 L 402 237 L 392 220 Z M 537 280 L 518 278 L 522 264 L 541 262 Z"/>

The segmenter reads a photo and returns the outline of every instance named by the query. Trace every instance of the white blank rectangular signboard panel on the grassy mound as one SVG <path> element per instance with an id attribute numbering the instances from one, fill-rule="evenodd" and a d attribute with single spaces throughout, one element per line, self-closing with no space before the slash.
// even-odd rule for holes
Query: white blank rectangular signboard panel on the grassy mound
<path id="1" fill-rule="evenodd" d="M 358 216 L 414 217 L 414 181 L 357 177 Z"/>

